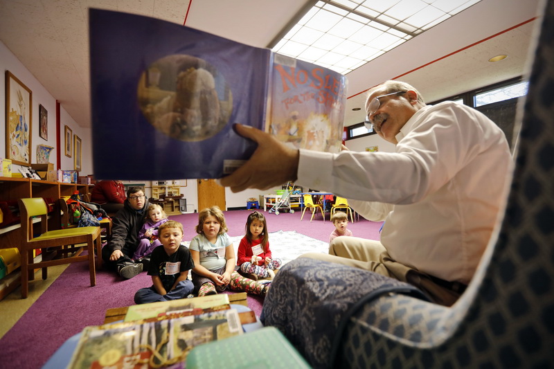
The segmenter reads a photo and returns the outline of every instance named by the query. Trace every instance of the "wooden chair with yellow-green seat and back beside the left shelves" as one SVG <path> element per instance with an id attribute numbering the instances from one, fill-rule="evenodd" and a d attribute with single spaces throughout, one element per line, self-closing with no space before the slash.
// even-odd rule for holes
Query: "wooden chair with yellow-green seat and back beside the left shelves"
<path id="1" fill-rule="evenodd" d="M 47 208 L 44 199 L 35 197 L 31 199 L 19 199 L 19 211 L 21 213 L 21 298 L 28 294 L 28 281 L 35 278 L 35 268 L 42 268 L 42 279 L 48 275 L 48 267 L 68 264 L 71 262 L 89 261 L 91 286 L 96 285 L 96 270 L 94 258 L 94 246 L 98 253 L 98 266 L 102 263 L 100 227 L 80 227 L 69 229 L 57 229 L 48 231 Z M 33 217 L 40 217 L 40 235 L 34 237 Z M 63 249 L 62 246 L 74 244 L 87 244 L 88 255 L 80 255 L 81 247 Z M 42 249 L 42 261 L 34 262 L 33 250 Z M 77 252 L 75 252 L 77 251 Z M 56 258 L 65 253 L 74 253 L 68 258 Z"/>

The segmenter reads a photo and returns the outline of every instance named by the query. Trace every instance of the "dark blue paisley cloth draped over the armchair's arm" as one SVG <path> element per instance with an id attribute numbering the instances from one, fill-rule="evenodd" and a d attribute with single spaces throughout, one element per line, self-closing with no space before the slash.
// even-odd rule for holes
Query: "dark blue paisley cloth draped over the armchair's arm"
<path id="1" fill-rule="evenodd" d="M 298 258 L 285 264 L 271 284 L 260 316 L 277 327 L 312 368 L 326 368 L 341 343 L 348 318 L 384 294 L 428 300 L 419 289 L 342 264 Z"/>

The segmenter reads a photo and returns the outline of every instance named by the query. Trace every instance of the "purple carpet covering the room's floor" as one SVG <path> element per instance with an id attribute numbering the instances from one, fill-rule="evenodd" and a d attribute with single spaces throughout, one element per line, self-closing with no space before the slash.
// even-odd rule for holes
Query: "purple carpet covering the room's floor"
<path id="1" fill-rule="evenodd" d="M 225 212 L 230 236 L 244 234 L 249 213 L 251 210 Z M 307 215 L 301 222 L 300 212 L 265 215 L 270 232 L 296 231 L 326 242 L 334 229 L 328 219 L 323 222 L 321 215 L 314 217 L 312 222 Z M 185 241 L 196 235 L 197 214 L 177 215 L 171 219 L 184 225 Z M 348 224 L 355 236 L 372 240 L 379 239 L 380 226 L 380 222 L 365 219 Z M 40 278 L 40 273 L 36 278 Z M 107 309 L 134 305 L 134 293 L 150 285 L 152 279 L 146 273 L 122 280 L 115 273 L 100 269 L 96 272 L 96 286 L 90 287 L 88 264 L 71 264 L 0 339 L 0 368 L 41 368 L 66 339 L 78 334 L 87 325 L 102 324 Z M 249 307 L 258 316 L 262 303 L 262 298 L 248 297 Z"/>

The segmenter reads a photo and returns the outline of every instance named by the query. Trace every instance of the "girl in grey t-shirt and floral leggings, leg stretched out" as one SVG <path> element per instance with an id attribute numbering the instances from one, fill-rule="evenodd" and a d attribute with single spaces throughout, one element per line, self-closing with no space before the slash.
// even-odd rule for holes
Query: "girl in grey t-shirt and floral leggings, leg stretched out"
<path id="1" fill-rule="evenodd" d="M 233 291 L 265 296 L 269 285 L 244 278 L 235 271 L 235 249 L 226 231 L 225 217 L 217 206 L 198 213 L 198 235 L 189 245 L 195 262 L 195 291 L 198 296 L 206 296 L 224 291 L 229 286 Z"/>

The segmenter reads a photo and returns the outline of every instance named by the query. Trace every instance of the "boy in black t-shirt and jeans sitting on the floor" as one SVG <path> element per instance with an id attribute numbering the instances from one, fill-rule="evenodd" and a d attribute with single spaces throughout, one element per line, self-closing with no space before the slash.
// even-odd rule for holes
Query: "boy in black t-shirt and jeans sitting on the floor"
<path id="1" fill-rule="evenodd" d="M 152 287 L 136 291 L 136 304 L 177 300 L 192 294 L 194 285 L 188 280 L 188 271 L 195 266 L 190 251 L 181 244 L 183 225 L 169 220 L 159 228 L 159 240 L 163 247 L 152 251 L 148 275 Z"/>

